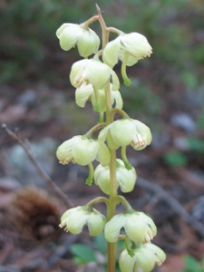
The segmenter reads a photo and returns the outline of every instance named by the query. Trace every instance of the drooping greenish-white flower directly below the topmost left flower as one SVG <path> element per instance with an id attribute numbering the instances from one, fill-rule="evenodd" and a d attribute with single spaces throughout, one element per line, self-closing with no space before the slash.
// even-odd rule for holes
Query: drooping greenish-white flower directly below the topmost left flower
<path id="1" fill-rule="evenodd" d="M 70 81 L 73 87 L 80 88 L 85 84 L 92 84 L 93 88 L 104 89 L 110 81 L 112 90 L 118 90 L 120 82 L 117 74 L 106 64 L 99 60 L 89 59 L 73 63 Z"/>

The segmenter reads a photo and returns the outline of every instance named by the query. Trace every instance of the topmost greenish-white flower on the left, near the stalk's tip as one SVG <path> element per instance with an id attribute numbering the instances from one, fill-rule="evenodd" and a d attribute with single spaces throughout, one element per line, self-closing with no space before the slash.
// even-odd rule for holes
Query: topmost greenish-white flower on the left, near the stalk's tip
<path id="1" fill-rule="evenodd" d="M 63 50 L 68 51 L 77 45 L 80 55 L 84 58 L 97 53 L 99 49 L 100 38 L 83 24 L 62 24 L 56 35 Z"/>

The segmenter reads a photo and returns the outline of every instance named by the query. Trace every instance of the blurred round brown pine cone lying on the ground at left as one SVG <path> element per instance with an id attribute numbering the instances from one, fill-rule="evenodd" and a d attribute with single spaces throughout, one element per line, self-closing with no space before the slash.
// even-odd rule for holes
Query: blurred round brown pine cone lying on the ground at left
<path id="1" fill-rule="evenodd" d="M 53 238 L 59 231 L 59 205 L 44 189 L 25 187 L 16 192 L 10 216 L 19 232 L 30 238 Z"/>

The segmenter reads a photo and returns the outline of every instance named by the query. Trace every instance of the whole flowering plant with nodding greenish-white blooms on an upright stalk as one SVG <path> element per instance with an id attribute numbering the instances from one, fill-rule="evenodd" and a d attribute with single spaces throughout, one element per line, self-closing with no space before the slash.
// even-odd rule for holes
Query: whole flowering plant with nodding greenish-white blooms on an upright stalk
<path id="1" fill-rule="evenodd" d="M 89 100 L 94 112 L 98 112 L 99 121 L 83 135 L 64 141 L 56 155 L 62 164 L 70 161 L 89 167 L 87 185 L 95 184 L 108 198 L 98 197 L 83 206 L 68 209 L 63 213 L 60 227 L 73 234 L 88 227 L 91 236 L 104 232 L 108 243 L 108 271 L 115 271 L 116 244 L 124 239 L 125 249 L 121 252 L 121 271 L 149 272 L 155 265 L 165 260 L 165 253 L 151 244 L 157 234 L 157 228 L 151 217 L 131 208 L 123 196 L 135 185 L 137 174 L 126 156 L 126 147 L 131 145 L 135 151 L 141 151 L 151 144 L 151 130 L 138 120 L 131 119 L 122 110 L 120 82 L 112 70 L 121 60 L 121 77 L 126 86 L 131 84 L 126 74 L 126 66 L 131 66 L 152 53 L 151 45 L 145 36 L 138 33 L 124 34 L 114 27 L 107 27 L 96 5 L 98 15 L 92 16 L 83 24 L 63 24 L 56 32 L 63 50 L 71 50 L 75 45 L 83 60 L 73 63 L 70 81 L 76 88 L 76 104 L 84 107 Z M 100 39 L 89 24 L 99 21 L 102 27 L 102 48 Z M 109 41 L 109 34 L 116 34 Z M 90 55 L 93 56 L 89 57 Z M 115 120 L 115 113 L 121 118 Z M 98 135 L 98 136 L 95 136 Z M 116 150 L 121 149 L 121 159 Z M 94 170 L 92 161 L 99 161 Z M 107 208 L 105 217 L 94 209 L 96 203 L 104 202 Z M 124 211 L 117 214 L 117 205 L 122 204 Z"/>

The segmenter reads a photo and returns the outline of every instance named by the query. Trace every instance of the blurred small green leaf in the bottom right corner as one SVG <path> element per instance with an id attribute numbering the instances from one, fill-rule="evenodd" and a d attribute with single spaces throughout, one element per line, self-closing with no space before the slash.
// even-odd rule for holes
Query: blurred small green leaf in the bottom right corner
<path id="1" fill-rule="evenodd" d="M 184 257 L 184 264 L 185 268 L 182 272 L 204 272 L 204 255 L 200 260 L 188 255 Z"/>

